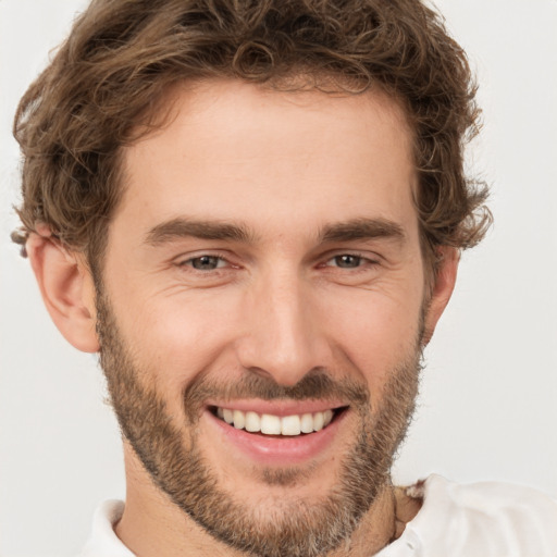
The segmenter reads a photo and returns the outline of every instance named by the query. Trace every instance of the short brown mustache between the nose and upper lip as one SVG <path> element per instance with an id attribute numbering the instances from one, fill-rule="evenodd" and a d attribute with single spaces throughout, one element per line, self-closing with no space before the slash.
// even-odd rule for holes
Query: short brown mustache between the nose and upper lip
<path id="1" fill-rule="evenodd" d="M 200 376 L 184 391 L 186 416 L 194 421 L 206 400 L 218 398 L 231 401 L 239 398 L 262 400 L 343 400 L 354 407 L 369 406 L 370 394 L 364 383 L 352 379 L 333 379 L 323 369 L 315 368 L 293 386 L 280 385 L 271 376 L 247 371 L 236 381 L 214 380 Z"/>

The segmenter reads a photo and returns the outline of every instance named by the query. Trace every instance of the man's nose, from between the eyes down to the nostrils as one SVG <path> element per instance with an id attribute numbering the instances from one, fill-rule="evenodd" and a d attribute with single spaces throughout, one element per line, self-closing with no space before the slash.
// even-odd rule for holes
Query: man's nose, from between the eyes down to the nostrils
<path id="1" fill-rule="evenodd" d="M 237 357 L 244 369 L 293 386 L 327 367 L 329 346 L 311 285 L 297 273 L 269 273 L 246 292 Z"/>

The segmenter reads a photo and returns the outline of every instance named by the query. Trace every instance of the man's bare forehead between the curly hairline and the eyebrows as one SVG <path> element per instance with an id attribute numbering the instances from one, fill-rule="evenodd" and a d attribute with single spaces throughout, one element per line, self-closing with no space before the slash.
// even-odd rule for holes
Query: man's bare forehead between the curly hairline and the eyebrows
<path id="1" fill-rule="evenodd" d="M 166 124 L 124 149 L 115 221 L 152 228 L 186 215 L 309 233 L 382 218 L 416 227 L 411 133 L 384 92 L 209 81 L 176 87 L 163 110 Z"/>

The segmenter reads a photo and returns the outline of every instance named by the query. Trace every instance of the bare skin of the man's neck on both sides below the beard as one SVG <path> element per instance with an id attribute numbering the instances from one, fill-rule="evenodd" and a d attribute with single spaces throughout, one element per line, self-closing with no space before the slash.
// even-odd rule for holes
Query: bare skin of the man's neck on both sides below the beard
<path id="1" fill-rule="evenodd" d="M 115 533 L 137 557 L 246 557 L 177 508 L 153 485 L 129 447 L 124 454 L 127 496 Z M 396 520 L 397 499 L 394 487 L 385 485 L 350 539 L 326 557 L 370 557 L 381 550 L 404 530 Z"/>

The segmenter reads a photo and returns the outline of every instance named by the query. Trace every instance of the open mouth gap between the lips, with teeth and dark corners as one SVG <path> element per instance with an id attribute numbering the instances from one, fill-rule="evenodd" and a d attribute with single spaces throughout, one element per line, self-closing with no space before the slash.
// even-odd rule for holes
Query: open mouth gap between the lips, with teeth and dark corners
<path id="1" fill-rule="evenodd" d="M 277 416 L 213 406 L 209 409 L 219 420 L 236 430 L 270 437 L 306 436 L 326 429 L 341 418 L 347 407 L 327 408 L 322 411 Z"/>

